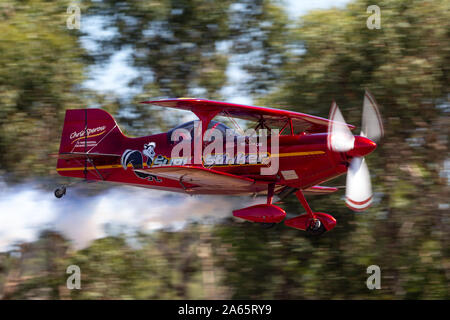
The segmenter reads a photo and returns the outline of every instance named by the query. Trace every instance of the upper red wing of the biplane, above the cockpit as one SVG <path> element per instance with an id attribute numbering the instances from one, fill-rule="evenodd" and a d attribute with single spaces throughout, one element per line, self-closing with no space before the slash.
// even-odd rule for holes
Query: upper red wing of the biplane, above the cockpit
<path id="1" fill-rule="evenodd" d="M 176 108 L 189 111 L 211 111 L 218 112 L 220 116 L 231 116 L 234 118 L 261 121 L 269 127 L 283 127 L 292 120 L 295 133 L 299 132 L 327 132 L 330 120 L 320 118 L 300 112 L 293 112 L 288 110 L 246 106 L 228 102 L 204 100 L 204 99 L 168 99 L 144 101 L 142 103 L 154 104 L 161 107 Z M 350 129 L 355 127 L 348 125 Z"/>

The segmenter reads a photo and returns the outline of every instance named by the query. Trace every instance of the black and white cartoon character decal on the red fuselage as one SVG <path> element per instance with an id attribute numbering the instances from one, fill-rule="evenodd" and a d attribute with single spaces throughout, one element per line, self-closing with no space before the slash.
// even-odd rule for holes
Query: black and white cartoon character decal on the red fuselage
<path id="1" fill-rule="evenodd" d="M 136 171 L 138 169 L 144 168 L 144 157 L 142 156 L 142 154 L 144 154 L 144 156 L 147 157 L 145 162 L 147 164 L 147 167 L 152 166 L 153 161 L 155 160 L 156 157 L 155 148 L 156 143 L 150 142 L 144 144 L 144 149 L 142 150 L 142 152 L 139 150 L 131 150 L 131 149 L 125 150 L 120 159 L 120 163 L 122 164 L 123 169 L 127 170 L 128 165 L 131 164 L 134 170 L 134 174 L 137 177 L 141 179 L 147 179 L 148 181 L 161 182 L 162 180 L 155 175 Z"/>

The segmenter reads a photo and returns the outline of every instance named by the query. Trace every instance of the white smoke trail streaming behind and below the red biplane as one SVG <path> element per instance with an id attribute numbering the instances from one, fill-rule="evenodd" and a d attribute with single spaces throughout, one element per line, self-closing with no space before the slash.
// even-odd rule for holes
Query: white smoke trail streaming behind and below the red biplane
<path id="1" fill-rule="evenodd" d="M 0 182 L 0 251 L 33 241 L 43 229 L 61 232 L 76 249 L 106 235 L 105 226 L 120 231 L 182 228 L 186 222 L 232 216 L 237 208 L 264 202 L 259 198 L 188 196 L 133 187 L 117 187 L 97 196 L 69 189 L 61 199 L 36 185 Z"/>

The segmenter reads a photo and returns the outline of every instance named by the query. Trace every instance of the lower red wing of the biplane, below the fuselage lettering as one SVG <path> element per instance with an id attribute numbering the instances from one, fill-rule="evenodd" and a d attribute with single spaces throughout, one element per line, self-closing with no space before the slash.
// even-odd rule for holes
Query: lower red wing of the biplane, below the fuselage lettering
<path id="1" fill-rule="evenodd" d="M 259 192 L 267 189 L 267 184 L 257 183 L 253 179 L 235 176 L 229 173 L 202 167 L 189 166 L 164 166 L 135 170 L 150 173 L 152 175 L 180 181 L 183 185 L 192 184 L 194 187 L 186 188 L 187 192 L 197 190 L 217 191 L 218 193 L 238 194 Z"/>

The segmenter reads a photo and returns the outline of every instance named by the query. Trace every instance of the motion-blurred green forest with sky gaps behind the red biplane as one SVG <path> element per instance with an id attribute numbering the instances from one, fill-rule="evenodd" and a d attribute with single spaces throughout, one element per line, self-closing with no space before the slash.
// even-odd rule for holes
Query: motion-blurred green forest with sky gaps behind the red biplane
<path id="1" fill-rule="evenodd" d="M 57 181 L 48 154 L 58 150 L 68 108 L 102 106 L 128 134 L 148 135 L 178 118 L 139 101 L 226 100 L 237 84 L 257 105 L 322 117 L 335 99 L 359 125 L 368 88 L 386 133 L 367 158 L 376 203 L 355 214 L 342 191 L 310 197 L 313 209 L 338 221 L 320 238 L 238 223 L 231 212 L 177 231 L 110 233 L 83 249 L 43 230 L 0 252 L 1 298 L 450 298 L 449 1 L 355 0 L 295 19 L 275 0 L 81 1 L 80 30 L 66 26 L 69 4 L 0 3 L 0 174 L 8 185 Z M 381 29 L 369 30 L 373 4 Z M 112 36 L 83 32 L 89 21 Z M 137 70 L 132 94 L 83 85 L 93 66 L 122 49 Z M 238 83 L 230 83 L 230 66 Z M 303 210 L 295 197 L 283 207 Z M 81 290 L 66 288 L 71 264 L 81 268 Z M 381 268 L 381 290 L 366 287 L 372 264 Z"/>

